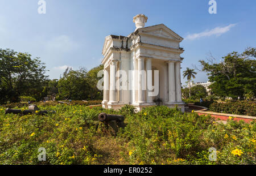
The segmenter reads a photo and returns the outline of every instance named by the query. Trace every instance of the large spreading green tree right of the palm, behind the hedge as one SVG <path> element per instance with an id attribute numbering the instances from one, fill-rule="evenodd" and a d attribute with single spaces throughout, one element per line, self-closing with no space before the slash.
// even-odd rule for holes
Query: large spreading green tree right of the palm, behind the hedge
<path id="1" fill-rule="evenodd" d="M 255 48 L 247 48 L 243 53 L 236 51 L 222 57 L 220 63 L 214 62 L 214 58 L 208 61 L 199 61 L 202 71 L 207 72 L 209 81 L 212 82 L 209 88 L 216 96 L 223 99 L 232 97 L 237 100 L 243 99 L 245 92 L 256 93 L 256 61 Z"/>

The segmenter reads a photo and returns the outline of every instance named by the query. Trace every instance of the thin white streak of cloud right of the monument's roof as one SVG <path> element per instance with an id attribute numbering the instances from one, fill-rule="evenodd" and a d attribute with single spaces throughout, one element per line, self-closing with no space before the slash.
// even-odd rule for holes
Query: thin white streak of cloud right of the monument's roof
<path id="1" fill-rule="evenodd" d="M 187 37 L 185 37 L 185 40 L 195 40 L 197 38 L 201 38 L 201 37 L 209 37 L 209 36 L 220 36 L 223 33 L 226 33 L 230 30 L 230 28 L 234 27 L 236 24 L 229 24 L 225 27 L 216 27 L 204 32 L 200 32 L 200 33 L 193 33 L 191 35 L 188 35 Z"/>

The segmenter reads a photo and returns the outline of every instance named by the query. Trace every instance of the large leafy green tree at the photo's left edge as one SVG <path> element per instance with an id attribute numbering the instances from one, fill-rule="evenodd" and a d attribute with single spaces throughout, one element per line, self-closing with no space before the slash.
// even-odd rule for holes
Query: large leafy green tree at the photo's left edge
<path id="1" fill-rule="evenodd" d="M 48 76 L 40 58 L 32 59 L 28 53 L 0 49 L 1 103 L 15 102 L 20 96 L 40 99 L 40 92 Z"/>

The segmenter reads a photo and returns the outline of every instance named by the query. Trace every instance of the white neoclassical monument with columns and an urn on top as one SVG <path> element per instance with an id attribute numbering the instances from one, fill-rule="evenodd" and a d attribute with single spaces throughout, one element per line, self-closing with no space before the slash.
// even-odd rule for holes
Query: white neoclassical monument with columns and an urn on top
<path id="1" fill-rule="evenodd" d="M 137 110 L 146 106 L 175 105 L 181 100 L 180 63 L 183 40 L 164 24 L 144 27 L 147 16 L 134 16 L 136 29 L 129 36 L 105 37 L 103 108 L 119 109 L 125 104 Z"/>

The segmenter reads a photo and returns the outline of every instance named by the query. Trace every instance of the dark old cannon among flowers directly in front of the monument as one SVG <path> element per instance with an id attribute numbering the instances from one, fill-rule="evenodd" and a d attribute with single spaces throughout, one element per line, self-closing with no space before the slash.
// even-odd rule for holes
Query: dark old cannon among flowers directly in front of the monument
<path id="1" fill-rule="evenodd" d="M 123 115 L 114 115 L 114 114 L 106 114 L 106 113 L 100 113 L 98 115 L 98 120 L 101 122 L 104 122 L 107 126 L 113 128 L 115 132 L 118 131 L 118 127 L 125 127 L 125 117 Z"/>

